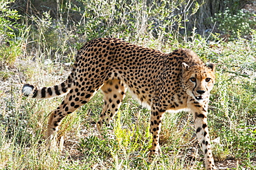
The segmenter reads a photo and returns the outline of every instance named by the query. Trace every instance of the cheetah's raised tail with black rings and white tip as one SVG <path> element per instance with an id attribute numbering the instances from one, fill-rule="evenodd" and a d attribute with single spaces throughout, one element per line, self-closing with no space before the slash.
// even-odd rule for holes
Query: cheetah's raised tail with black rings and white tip
<path id="1" fill-rule="evenodd" d="M 33 98 L 37 99 L 47 99 L 51 97 L 55 97 L 57 95 L 63 95 L 70 91 L 71 88 L 71 79 L 66 79 L 66 81 L 62 82 L 59 85 L 51 86 L 51 87 L 43 87 L 43 88 L 35 88 L 33 85 L 24 84 L 22 88 L 22 94 L 26 97 L 31 95 Z"/>

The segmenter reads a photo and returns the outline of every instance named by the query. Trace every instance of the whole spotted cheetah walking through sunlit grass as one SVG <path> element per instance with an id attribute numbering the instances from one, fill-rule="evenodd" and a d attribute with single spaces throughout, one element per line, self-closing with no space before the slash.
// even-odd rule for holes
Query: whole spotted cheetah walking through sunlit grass
<path id="1" fill-rule="evenodd" d="M 149 160 L 160 153 L 159 133 L 165 111 L 190 111 L 196 137 L 201 144 L 206 169 L 216 169 L 208 131 L 208 102 L 214 86 L 214 64 L 204 64 L 190 49 L 180 48 L 166 54 L 129 44 L 120 39 L 88 41 L 75 57 L 68 78 L 59 85 L 36 88 L 24 84 L 22 93 L 33 98 L 51 98 L 66 93 L 62 104 L 48 119 L 46 138 L 51 138 L 62 119 L 91 100 L 98 90 L 104 106 L 97 122 L 102 124 L 116 115 L 127 89 L 151 110 L 152 148 Z"/>

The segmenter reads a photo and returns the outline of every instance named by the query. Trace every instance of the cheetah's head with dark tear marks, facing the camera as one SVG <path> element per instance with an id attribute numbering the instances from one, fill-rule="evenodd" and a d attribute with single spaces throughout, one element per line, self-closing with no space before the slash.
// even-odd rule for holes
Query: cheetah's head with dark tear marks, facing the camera
<path id="1" fill-rule="evenodd" d="M 189 66 L 182 63 L 182 86 L 183 90 L 197 102 L 203 102 L 210 96 L 213 88 L 215 65 Z"/>

